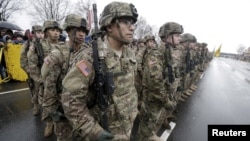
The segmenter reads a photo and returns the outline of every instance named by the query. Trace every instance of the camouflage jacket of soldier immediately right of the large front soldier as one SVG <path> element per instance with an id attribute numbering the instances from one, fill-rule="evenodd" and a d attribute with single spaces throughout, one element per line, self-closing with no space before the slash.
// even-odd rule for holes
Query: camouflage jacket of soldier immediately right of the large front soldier
<path id="1" fill-rule="evenodd" d="M 157 48 L 147 48 L 143 57 L 143 101 L 158 103 L 162 106 L 167 102 L 163 70 L 163 54 Z"/>

